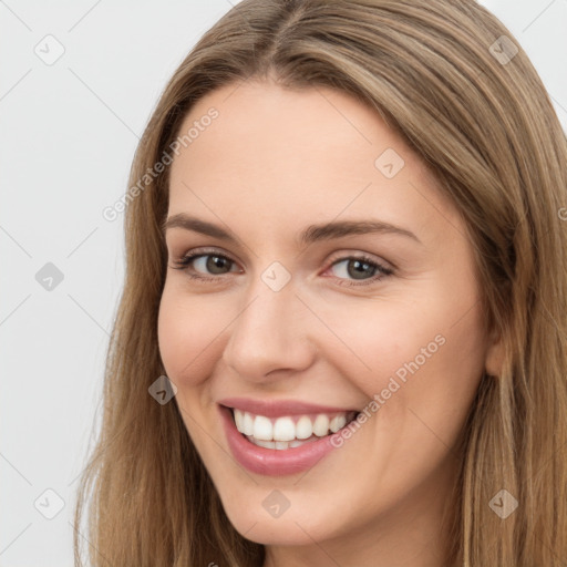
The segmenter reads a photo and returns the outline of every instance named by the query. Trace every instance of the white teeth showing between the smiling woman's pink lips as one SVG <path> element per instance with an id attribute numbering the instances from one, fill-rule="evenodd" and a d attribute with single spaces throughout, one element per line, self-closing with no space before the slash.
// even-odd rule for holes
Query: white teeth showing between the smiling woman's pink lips
<path id="1" fill-rule="evenodd" d="M 308 413 L 267 417 L 229 408 L 237 431 L 254 445 L 287 450 L 313 443 L 337 433 L 354 421 L 360 412 Z"/>

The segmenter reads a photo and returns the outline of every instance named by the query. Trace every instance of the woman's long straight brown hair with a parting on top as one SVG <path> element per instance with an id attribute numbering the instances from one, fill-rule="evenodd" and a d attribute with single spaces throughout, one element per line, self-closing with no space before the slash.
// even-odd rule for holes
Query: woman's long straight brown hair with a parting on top
<path id="1" fill-rule="evenodd" d="M 505 360 L 498 375 L 483 377 L 463 432 L 450 564 L 565 565 L 567 142 L 527 55 L 473 0 L 244 0 L 179 65 L 131 172 L 125 284 L 102 429 L 79 489 L 76 565 L 83 535 L 94 566 L 264 560 L 264 546 L 228 522 L 177 405 L 148 394 L 164 374 L 157 312 L 168 168 L 140 179 L 165 161 L 197 100 L 267 76 L 370 105 L 466 220 L 487 330 L 502 336 Z M 504 489 L 518 503 L 506 518 L 491 505 Z"/>

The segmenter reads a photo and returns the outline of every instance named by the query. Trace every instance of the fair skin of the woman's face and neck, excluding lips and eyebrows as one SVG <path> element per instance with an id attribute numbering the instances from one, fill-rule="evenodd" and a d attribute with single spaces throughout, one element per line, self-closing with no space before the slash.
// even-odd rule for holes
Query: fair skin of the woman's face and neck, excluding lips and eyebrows
<path id="1" fill-rule="evenodd" d="M 267 546 L 266 567 L 442 566 L 440 523 L 461 460 L 452 447 L 483 369 L 497 374 L 502 355 L 484 331 L 464 221 L 422 159 L 346 93 L 271 80 L 224 86 L 192 109 L 182 131 L 210 106 L 219 116 L 171 166 L 168 216 L 215 223 L 238 241 L 166 231 L 158 339 L 230 523 Z M 404 161 L 392 178 L 374 165 L 386 148 Z M 420 241 L 361 234 L 298 244 L 308 225 L 352 219 L 392 223 Z M 207 271 L 209 258 L 193 262 L 216 282 L 173 268 L 198 247 L 231 260 L 218 271 Z M 394 272 L 368 284 L 375 271 L 367 268 L 355 279 L 348 260 L 361 254 Z M 274 261 L 291 275 L 277 292 L 261 279 Z M 361 410 L 437 336 L 444 344 L 308 472 L 262 476 L 230 454 L 218 400 Z M 277 518 L 262 506 L 276 488 L 289 501 Z"/>

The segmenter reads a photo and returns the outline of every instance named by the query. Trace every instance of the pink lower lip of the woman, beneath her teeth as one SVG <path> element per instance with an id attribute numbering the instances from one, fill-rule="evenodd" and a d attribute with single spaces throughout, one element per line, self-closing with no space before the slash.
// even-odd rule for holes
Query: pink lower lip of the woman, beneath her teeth
<path id="1" fill-rule="evenodd" d="M 235 458 L 248 471 L 268 476 L 284 476 L 307 471 L 334 447 L 331 435 L 293 449 L 265 449 L 248 441 L 237 429 L 233 413 L 219 405 L 228 445 Z"/>

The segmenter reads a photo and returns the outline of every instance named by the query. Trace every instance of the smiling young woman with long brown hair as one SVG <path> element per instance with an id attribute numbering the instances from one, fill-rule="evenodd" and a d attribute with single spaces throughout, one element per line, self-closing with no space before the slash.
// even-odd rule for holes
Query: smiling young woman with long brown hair
<path id="1" fill-rule="evenodd" d="M 564 565 L 566 158 L 472 0 L 230 10 L 132 169 L 93 565 Z"/>

